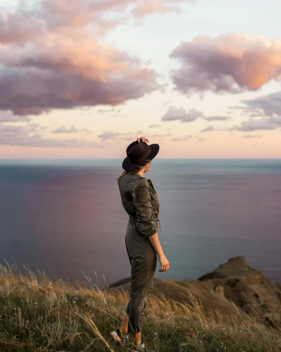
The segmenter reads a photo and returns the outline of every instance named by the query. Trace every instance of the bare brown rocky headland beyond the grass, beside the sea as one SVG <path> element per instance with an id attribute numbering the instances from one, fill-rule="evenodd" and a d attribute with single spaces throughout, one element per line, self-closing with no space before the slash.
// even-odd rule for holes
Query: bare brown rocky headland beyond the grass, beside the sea
<path id="1" fill-rule="evenodd" d="M 116 282 L 110 288 L 130 292 L 130 278 Z M 257 313 L 274 327 L 281 326 L 281 286 L 267 279 L 261 271 L 252 269 L 244 256 L 230 258 L 198 280 L 154 279 L 152 293 L 157 292 L 179 302 L 190 292 L 205 310 L 231 315 L 238 309 L 250 317 Z"/>

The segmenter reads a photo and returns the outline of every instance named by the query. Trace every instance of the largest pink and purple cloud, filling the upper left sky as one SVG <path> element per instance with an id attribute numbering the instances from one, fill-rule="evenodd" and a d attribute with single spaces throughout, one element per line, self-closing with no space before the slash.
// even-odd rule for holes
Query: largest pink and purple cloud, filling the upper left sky
<path id="1" fill-rule="evenodd" d="M 132 15 L 178 11 L 183 1 L 41 0 L 0 13 L 0 110 L 38 115 L 153 92 L 156 72 L 99 39 Z"/>

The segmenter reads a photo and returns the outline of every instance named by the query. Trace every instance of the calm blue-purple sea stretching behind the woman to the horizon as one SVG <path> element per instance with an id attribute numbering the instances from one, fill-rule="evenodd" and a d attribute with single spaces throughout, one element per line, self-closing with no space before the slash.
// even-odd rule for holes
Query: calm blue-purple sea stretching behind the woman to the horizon
<path id="1" fill-rule="evenodd" d="M 0 160 L 0 261 L 99 286 L 130 275 L 121 160 Z M 281 282 L 281 160 L 154 160 L 170 261 L 156 277 L 196 279 L 231 256 Z M 12 259 L 13 258 L 13 259 Z M 103 278 L 105 276 L 105 279 Z"/>

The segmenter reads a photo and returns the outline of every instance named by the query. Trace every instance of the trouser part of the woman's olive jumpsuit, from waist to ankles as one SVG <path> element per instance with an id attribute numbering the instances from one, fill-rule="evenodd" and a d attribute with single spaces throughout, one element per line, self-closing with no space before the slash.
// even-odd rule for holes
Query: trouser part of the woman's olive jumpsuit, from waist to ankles
<path id="1" fill-rule="evenodd" d="M 153 288 L 157 254 L 149 238 L 141 235 L 130 221 L 126 232 L 126 249 L 131 263 L 131 296 L 126 308 L 129 333 L 141 332 L 147 296 Z"/>

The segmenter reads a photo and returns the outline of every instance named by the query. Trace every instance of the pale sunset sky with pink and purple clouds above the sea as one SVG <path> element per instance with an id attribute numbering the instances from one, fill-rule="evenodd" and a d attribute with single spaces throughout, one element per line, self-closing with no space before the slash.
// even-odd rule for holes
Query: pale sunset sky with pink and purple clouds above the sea
<path id="1" fill-rule="evenodd" d="M 2 0 L 0 159 L 281 158 L 278 0 Z"/>

